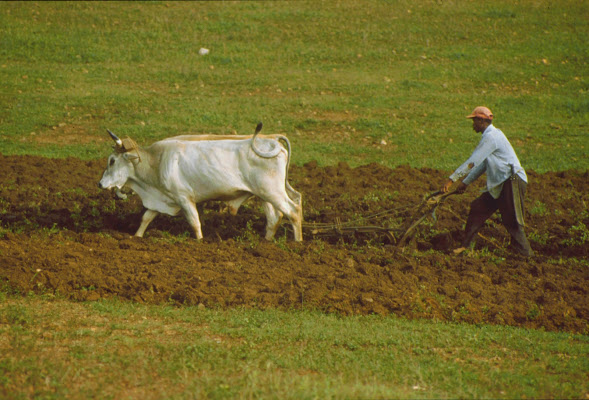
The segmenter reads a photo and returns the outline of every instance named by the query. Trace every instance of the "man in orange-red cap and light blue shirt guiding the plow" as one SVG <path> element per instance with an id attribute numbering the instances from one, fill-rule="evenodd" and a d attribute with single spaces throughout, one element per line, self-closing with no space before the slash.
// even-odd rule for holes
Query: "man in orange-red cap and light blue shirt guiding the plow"
<path id="1" fill-rule="evenodd" d="M 472 119 L 475 132 L 482 133 L 481 141 L 468 160 L 450 175 L 441 191 L 448 192 L 454 182 L 466 175 L 456 188 L 457 193 L 464 193 L 466 187 L 485 172 L 487 190 L 471 203 L 464 240 L 454 253 L 466 250 L 485 221 L 499 209 L 503 225 L 511 235 L 511 247 L 529 257 L 533 251 L 523 229 L 526 172 L 503 132 L 493 126 L 491 110 L 477 107 L 466 118 Z"/>

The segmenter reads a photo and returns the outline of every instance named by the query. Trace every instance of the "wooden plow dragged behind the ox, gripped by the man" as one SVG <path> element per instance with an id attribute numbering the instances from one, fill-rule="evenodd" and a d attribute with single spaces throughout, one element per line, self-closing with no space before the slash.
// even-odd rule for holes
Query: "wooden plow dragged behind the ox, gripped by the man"
<path id="1" fill-rule="evenodd" d="M 444 201 L 456 192 L 442 193 L 441 191 L 427 194 L 423 197 L 421 203 L 390 209 L 367 217 L 358 218 L 354 221 L 342 222 L 339 218 L 335 219 L 335 223 L 318 224 L 318 223 L 304 223 L 303 229 L 307 230 L 312 236 L 354 236 L 358 233 L 377 233 L 384 234 L 393 244 L 399 247 L 405 246 L 417 233 L 417 227 L 428 217 L 434 221 L 436 218 L 437 208 L 444 203 Z M 376 224 L 363 225 L 367 221 L 377 221 L 385 217 L 395 217 L 401 213 L 410 212 L 414 209 L 411 217 L 403 224 L 402 227 L 388 228 Z"/>

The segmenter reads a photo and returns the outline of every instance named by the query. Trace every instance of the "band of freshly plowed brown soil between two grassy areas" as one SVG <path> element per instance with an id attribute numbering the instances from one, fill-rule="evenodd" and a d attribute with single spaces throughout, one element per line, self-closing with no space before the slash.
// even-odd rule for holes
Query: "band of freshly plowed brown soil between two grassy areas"
<path id="1" fill-rule="evenodd" d="M 294 166 L 291 184 L 304 196 L 303 243 L 292 241 L 288 223 L 277 240 L 264 241 L 265 218 L 255 201 L 237 216 L 205 205 L 199 243 L 188 237 L 182 217 L 159 216 L 144 238 L 131 237 L 142 205 L 136 195 L 115 200 L 99 190 L 104 167 L 104 160 L 0 155 L 5 287 L 73 300 L 118 296 L 589 331 L 588 172 L 529 172 L 526 230 L 536 255 L 525 259 L 507 250 L 498 215 L 477 237 L 476 251 L 451 254 L 484 179 L 448 197 L 437 220 L 426 219 L 399 247 L 384 233 L 314 236 L 309 224 L 355 221 L 391 228 L 398 239 L 447 172 Z"/>

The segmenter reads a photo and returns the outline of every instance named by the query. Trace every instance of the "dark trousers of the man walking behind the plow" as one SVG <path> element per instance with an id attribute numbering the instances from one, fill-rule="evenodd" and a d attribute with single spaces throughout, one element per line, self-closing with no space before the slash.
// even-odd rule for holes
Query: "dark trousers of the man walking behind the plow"
<path id="1" fill-rule="evenodd" d="M 466 221 L 465 237 L 462 242 L 463 247 L 468 247 L 474 236 L 481 230 L 485 221 L 499 210 L 503 226 L 511 235 L 511 247 L 518 253 L 531 256 L 533 254 L 530 243 L 526 238 L 523 225 L 518 222 L 516 215 L 516 206 L 514 202 L 520 201 L 521 215 L 520 221 L 523 222 L 523 202 L 526 194 L 526 182 L 518 176 L 508 179 L 503 184 L 501 195 L 494 199 L 488 192 L 483 193 L 470 204 L 470 213 Z M 514 190 L 517 190 L 514 196 Z"/>

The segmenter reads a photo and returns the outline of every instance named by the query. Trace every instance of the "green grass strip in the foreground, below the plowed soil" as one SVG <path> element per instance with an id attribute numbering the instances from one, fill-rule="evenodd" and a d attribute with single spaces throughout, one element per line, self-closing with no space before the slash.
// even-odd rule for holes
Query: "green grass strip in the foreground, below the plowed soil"
<path id="1" fill-rule="evenodd" d="M 589 389 L 581 335 L 0 298 L 9 398 L 584 398 Z"/>

